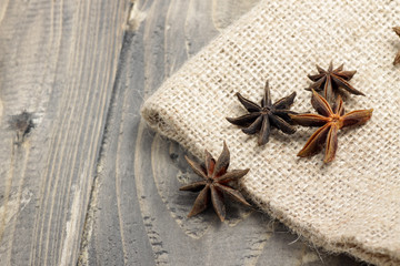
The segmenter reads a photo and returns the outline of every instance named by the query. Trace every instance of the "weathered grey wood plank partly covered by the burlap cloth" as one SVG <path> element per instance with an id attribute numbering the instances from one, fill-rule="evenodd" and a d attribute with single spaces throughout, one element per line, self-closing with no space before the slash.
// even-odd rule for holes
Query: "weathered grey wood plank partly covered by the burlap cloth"
<path id="1" fill-rule="evenodd" d="M 149 131 L 143 98 L 258 0 L 142 0 L 126 34 L 116 96 L 97 186 L 87 219 L 81 264 L 116 265 L 357 265 L 319 255 L 266 214 L 228 205 L 186 217 L 196 195 L 179 192 L 197 178 L 184 151 Z"/>

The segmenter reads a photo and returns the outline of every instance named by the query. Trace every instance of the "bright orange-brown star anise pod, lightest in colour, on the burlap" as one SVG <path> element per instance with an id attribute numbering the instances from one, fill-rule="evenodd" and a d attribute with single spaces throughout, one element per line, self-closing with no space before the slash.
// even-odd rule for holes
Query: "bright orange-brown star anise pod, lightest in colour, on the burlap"
<path id="1" fill-rule="evenodd" d="M 321 126 L 307 141 L 298 156 L 306 157 L 316 154 L 326 143 L 324 163 L 333 161 L 338 149 L 338 131 L 350 125 L 361 125 L 370 120 L 373 109 L 358 110 L 344 114 L 341 96 L 331 108 L 326 99 L 312 90 L 311 104 L 319 114 L 290 114 L 293 122 L 304 126 Z"/>

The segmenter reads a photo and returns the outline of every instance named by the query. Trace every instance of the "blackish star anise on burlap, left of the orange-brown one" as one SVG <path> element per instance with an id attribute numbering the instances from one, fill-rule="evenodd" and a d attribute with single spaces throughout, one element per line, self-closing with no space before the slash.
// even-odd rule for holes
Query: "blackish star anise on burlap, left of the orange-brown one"
<path id="1" fill-rule="evenodd" d="M 296 132 L 296 129 L 290 125 L 291 121 L 289 117 L 290 113 L 294 113 L 289 109 L 290 105 L 293 104 L 296 92 L 272 104 L 268 81 L 264 90 L 266 93 L 261 100 L 261 105 L 251 102 L 237 92 L 236 95 L 249 113 L 236 119 L 227 117 L 232 124 L 243 127 L 242 132 L 246 134 L 252 135 L 259 132 L 259 145 L 268 143 L 271 126 L 274 126 L 287 134 L 293 134 Z"/>

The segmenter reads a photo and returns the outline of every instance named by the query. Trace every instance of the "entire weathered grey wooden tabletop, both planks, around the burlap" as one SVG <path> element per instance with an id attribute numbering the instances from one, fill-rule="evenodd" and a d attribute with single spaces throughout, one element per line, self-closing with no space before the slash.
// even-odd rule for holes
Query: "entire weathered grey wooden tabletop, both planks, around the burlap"
<path id="1" fill-rule="evenodd" d="M 140 117 L 258 1 L 0 0 L 0 265 L 358 265 L 239 205 L 188 219 L 184 151 Z"/>

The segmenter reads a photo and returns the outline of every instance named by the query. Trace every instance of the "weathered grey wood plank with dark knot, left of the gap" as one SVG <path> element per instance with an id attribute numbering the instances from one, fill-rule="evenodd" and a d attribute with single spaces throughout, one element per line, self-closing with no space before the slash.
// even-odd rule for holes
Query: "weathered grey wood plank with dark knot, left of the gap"
<path id="1" fill-rule="evenodd" d="M 0 265 L 73 265 L 129 0 L 0 2 Z M 22 143 L 10 115 L 33 113 Z"/>

